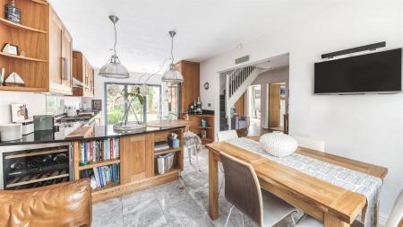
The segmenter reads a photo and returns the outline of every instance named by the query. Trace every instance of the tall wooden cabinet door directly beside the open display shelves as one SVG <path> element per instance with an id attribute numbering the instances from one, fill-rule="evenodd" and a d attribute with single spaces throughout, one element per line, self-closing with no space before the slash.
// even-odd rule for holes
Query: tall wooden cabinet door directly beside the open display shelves
<path id="1" fill-rule="evenodd" d="M 49 89 L 58 90 L 62 84 L 63 23 L 51 8 L 49 15 Z"/>

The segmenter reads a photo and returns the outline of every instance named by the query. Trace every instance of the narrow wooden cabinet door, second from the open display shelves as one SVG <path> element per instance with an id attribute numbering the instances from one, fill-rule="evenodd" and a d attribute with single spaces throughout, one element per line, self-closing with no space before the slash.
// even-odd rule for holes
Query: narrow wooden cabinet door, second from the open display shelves
<path id="1" fill-rule="evenodd" d="M 62 85 L 66 91 L 72 88 L 73 38 L 69 31 L 62 34 Z"/>

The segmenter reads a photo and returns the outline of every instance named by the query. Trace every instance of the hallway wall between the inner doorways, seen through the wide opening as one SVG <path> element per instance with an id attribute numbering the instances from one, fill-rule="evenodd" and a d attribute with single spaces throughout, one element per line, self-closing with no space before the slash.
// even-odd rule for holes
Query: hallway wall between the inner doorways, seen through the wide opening
<path id="1" fill-rule="evenodd" d="M 268 128 L 269 126 L 269 90 L 268 83 L 286 82 L 288 84 L 288 67 L 280 67 L 268 72 L 259 74 L 252 85 L 261 85 L 261 127 Z"/>

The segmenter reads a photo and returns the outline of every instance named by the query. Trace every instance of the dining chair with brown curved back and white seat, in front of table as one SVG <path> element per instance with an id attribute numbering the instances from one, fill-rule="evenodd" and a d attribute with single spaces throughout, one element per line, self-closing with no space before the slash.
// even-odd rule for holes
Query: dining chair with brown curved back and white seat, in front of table
<path id="1" fill-rule="evenodd" d="M 253 167 L 226 153 L 219 154 L 224 166 L 225 197 L 232 205 L 227 215 L 226 227 L 234 206 L 259 226 L 269 227 L 296 212 L 296 208 L 277 196 L 263 190 Z M 291 215 L 292 221 L 294 217 Z"/>

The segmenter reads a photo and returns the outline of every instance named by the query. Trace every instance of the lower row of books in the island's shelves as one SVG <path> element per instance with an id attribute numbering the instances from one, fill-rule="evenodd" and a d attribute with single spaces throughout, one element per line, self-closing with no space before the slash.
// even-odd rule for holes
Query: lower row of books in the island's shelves
<path id="1" fill-rule="evenodd" d="M 110 164 L 106 166 L 94 167 L 89 170 L 81 170 L 80 178 L 90 178 L 95 180 L 97 188 L 107 186 L 107 183 L 120 182 L 120 165 L 119 163 Z"/>

